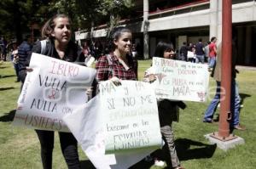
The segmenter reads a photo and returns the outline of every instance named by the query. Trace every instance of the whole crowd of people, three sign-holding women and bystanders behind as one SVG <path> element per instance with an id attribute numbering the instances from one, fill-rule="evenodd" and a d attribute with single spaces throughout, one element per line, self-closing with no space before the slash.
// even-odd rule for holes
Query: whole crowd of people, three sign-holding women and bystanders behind
<path id="1" fill-rule="evenodd" d="M 25 37 L 19 47 L 16 43 L 12 44 L 11 59 L 13 60 L 17 82 L 21 84 L 25 82 L 26 73 L 32 71 L 29 68 L 29 62 L 32 53 L 44 54 L 55 59 L 61 59 L 67 62 L 84 63 L 86 66 L 91 65 L 91 59 L 96 61 L 96 84 L 92 90 L 96 90 L 96 85 L 102 81 L 110 80 L 114 84 L 119 85 L 120 80 L 137 81 L 137 47 L 132 44 L 132 32 L 124 26 L 113 29 L 111 34 L 111 42 L 108 45 L 102 45 L 101 42 L 83 42 L 82 47 L 71 40 L 71 20 L 65 14 L 56 14 L 49 19 L 43 26 L 42 38 L 46 39 L 46 46 L 42 52 L 41 42 L 35 42 L 33 45 L 29 37 Z M 214 76 L 219 70 L 218 62 L 220 59 L 219 51 L 221 48 L 216 46 L 217 38 L 212 37 L 211 42 L 203 44 L 201 38 L 195 44 L 183 42 L 183 46 L 179 49 L 178 54 L 175 52 L 172 42 L 158 42 L 154 57 L 164 59 L 179 59 L 204 64 L 208 60 L 208 68 Z M 1 58 L 5 59 L 4 39 L 1 39 Z M 4 47 L 5 48 L 5 47 Z M 218 62 L 216 62 L 218 60 Z M 94 60 L 92 60 L 94 61 Z M 235 69 L 235 68 L 234 68 Z M 212 74 L 212 76 L 213 76 Z M 234 129 L 245 129 L 239 124 L 239 104 L 240 98 L 235 77 L 232 75 L 232 96 L 231 102 L 234 115 L 230 126 Z M 204 122 L 212 122 L 214 110 L 219 103 L 220 79 L 214 77 L 217 82 L 217 91 L 212 103 L 209 105 L 205 115 Z M 151 72 L 151 68 L 145 71 L 144 82 L 154 82 L 156 76 Z M 22 89 L 22 85 L 21 85 Z M 233 101 L 232 101 L 233 100 Z M 174 169 L 183 169 L 181 166 L 174 144 L 174 133 L 172 129 L 172 121 L 177 121 L 179 108 L 184 109 L 185 104 L 181 101 L 169 99 L 158 99 L 158 110 L 160 119 L 160 132 L 165 141 L 165 147 L 168 152 L 166 155 L 167 166 Z M 54 132 L 36 130 L 39 142 L 41 144 L 41 159 L 44 169 L 52 168 L 52 152 L 54 149 Z M 78 143 L 70 132 L 59 132 L 61 151 L 67 162 L 68 168 L 80 168 Z M 153 157 L 155 159 L 157 157 Z"/>

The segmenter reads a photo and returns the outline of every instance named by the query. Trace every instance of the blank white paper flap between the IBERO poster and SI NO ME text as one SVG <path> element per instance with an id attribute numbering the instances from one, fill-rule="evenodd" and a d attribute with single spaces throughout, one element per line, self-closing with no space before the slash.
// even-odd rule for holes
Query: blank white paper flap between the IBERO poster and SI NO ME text
<path id="1" fill-rule="evenodd" d="M 98 97 L 83 104 L 73 114 L 63 117 L 84 153 L 96 168 L 109 168 L 112 158 L 105 155 L 103 118 Z M 113 158 L 114 159 L 114 158 Z"/>

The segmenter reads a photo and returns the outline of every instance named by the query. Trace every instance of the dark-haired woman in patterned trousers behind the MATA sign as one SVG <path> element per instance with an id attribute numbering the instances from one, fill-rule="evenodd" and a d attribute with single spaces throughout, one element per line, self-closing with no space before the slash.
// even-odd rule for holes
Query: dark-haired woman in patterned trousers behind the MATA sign
<path id="1" fill-rule="evenodd" d="M 172 43 L 159 42 L 155 48 L 154 57 L 163 59 L 176 59 L 175 50 Z M 157 76 L 154 75 L 153 67 L 145 72 L 144 81 L 154 82 Z M 183 169 L 177 157 L 174 144 L 174 134 L 172 130 L 172 121 L 178 121 L 178 107 L 184 109 L 185 104 L 181 101 L 171 101 L 169 99 L 158 99 L 158 110 L 160 119 L 160 132 L 165 141 L 165 146 L 169 151 L 170 159 L 166 162 L 168 166 L 174 169 Z"/>

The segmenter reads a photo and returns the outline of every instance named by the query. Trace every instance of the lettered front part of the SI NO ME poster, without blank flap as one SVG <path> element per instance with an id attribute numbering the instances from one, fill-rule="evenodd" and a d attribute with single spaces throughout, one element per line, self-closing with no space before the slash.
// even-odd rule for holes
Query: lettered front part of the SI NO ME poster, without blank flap
<path id="1" fill-rule="evenodd" d="M 160 124 L 154 90 L 149 83 L 122 81 L 100 83 L 107 150 L 160 145 Z"/>

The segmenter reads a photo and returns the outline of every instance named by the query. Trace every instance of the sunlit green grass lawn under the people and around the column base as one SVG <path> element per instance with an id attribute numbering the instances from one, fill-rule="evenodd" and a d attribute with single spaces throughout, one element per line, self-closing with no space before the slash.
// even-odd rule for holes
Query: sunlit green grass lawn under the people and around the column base
<path id="1" fill-rule="evenodd" d="M 139 78 L 151 64 L 151 60 L 139 61 Z M 20 93 L 20 83 L 15 82 L 15 70 L 11 63 L 0 65 L 0 169 L 42 168 L 40 147 L 36 133 L 32 129 L 13 127 L 11 122 L 15 115 L 16 101 Z M 176 136 L 177 153 L 186 169 L 254 169 L 256 168 L 256 70 L 240 70 L 237 76 L 240 94 L 244 107 L 241 109 L 241 124 L 247 131 L 234 131 L 244 138 L 245 144 L 224 152 L 222 149 L 208 143 L 204 135 L 217 132 L 218 125 L 202 122 L 204 111 L 210 103 L 187 102 L 187 109 L 180 113 L 180 121 L 173 123 Z M 215 82 L 211 79 L 212 94 Z M 255 109 L 255 110 L 254 110 Z M 218 110 L 216 112 L 218 115 Z M 58 135 L 55 133 L 55 149 L 53 168 L 67 168 L 64 161 Z M 83 168 L 88 161 L 79 149 Z M 150 165 L 140 162 L 134 169 L 147 169 Z M 156 167 L 151 167 L 156 168 Z"/>

